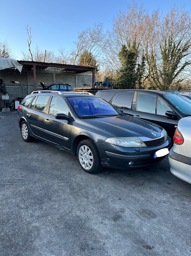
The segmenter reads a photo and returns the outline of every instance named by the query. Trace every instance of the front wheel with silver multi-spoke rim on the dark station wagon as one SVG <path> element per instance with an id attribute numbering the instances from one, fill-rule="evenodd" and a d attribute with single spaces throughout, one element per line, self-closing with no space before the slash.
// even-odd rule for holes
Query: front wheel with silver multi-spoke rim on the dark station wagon
<path id="1" fill-rule="evenodd" d="M 90 140 L 83 140 L 77 146 L 77 158 L 83 171 L 87 173 L 97 173 L 102 167 L 99 153 Z"/>

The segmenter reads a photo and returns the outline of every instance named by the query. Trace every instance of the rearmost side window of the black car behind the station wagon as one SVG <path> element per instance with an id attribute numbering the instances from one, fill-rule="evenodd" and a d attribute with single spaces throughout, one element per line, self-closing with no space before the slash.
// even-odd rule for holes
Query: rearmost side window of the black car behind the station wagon
<path id="1" fill-rule="evenodd" d="M 122 110 L 123 113 L 132 115 L 133 111 L 131 110 L 131 105 L 133 95 L 133 91 L 116 92 L 111 99 L 111 104 L 117 107 L 119 110 Z"/>

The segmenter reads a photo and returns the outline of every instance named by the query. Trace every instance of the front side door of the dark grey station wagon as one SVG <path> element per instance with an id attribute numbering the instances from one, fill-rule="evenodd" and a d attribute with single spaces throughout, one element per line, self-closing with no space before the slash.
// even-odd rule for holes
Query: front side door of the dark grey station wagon
<path id="1" fill-rule="evenodd" d="M 56 113 L 69 115 L 69 110 L 62 98 L 52 96 L 49 109 L 43 116 L 44 139 L 70 150 L 71 124 L 68 120 L 56 119 Z"/>

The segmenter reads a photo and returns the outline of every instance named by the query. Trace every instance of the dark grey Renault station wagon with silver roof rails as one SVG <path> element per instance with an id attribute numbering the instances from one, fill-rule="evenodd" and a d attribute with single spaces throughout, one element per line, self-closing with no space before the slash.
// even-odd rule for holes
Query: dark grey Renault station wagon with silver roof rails
<path id="1" fill-rule="evenodd" d="M 157 163 L 171 146 L 159 125 L 124 115 L 92 94 L 32 92 L 18 107 L 18 124 L 25 142 L 37 138 L 77 155 L 88 173 Z"/>

